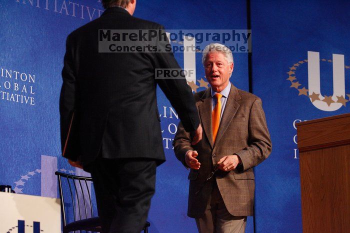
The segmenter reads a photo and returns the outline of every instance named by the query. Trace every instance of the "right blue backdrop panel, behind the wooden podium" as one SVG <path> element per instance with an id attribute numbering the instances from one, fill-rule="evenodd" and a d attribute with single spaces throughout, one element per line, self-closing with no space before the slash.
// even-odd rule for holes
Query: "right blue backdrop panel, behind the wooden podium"
<path id="1" fill-rule="evenodd" d="M 340 0 L 251 1 L 252 91 L 273 148 L 255 169 L 256 232 L 302 231 L 294 123 L 349 112 L 349 10 Z"/>

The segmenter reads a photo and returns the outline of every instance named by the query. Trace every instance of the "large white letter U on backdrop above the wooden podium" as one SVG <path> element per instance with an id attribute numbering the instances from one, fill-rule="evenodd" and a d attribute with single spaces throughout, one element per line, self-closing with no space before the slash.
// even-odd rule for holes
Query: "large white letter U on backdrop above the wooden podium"
<path id="1" fill-rule="evenodd" d="M 320 76 L 319 76 L 319 52 L 307 51 L 307 72 L 308 72 L 308 94 L 319 94 L 320 100 L 314 100 L 312 104 L 323 111 L 335 111 L 339 109 L 342 104 L 337 101 L 336 96 L 345 96 L 345 69 L 344 69 L 344 55 L 333 54 L 333 95 L 332 102 L 329 106 L 326 102 L 321 101 L 324 96 L 320 90 Z M 311 98 L 310 98 L 311 100 Z"/>

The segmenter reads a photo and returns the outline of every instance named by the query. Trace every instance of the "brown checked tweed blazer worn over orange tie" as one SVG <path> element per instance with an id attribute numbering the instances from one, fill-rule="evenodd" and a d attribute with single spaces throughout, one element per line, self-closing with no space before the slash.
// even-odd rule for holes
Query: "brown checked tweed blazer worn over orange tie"
<path id="1" fill-rule="evenodd" d="M 200 168 L 191 169 L 188 175 L 190 182 L 187 215 L 201 217 L 204 214 L 213 179 L 207 182 L 197 195 L 195 192 L 202 186 L 217 161 L 222 156 L 234 153 L 239 155 L 242 162 L 235 170 L 229 172 L 218 170 L 215 175 L 217 186 L 227 210 L 232 215 L 252 215 L 255 187 L 252 167 L 267 158 L 271 152 L 271 141 L 261 99 L 231 84 L 213 144 L 210 88 L 195 93 L 194 96 L 203 127 L 202 140 L 192 146 L 191 135 L 179 123 L 172 143 L 177 159 L 185 166 L 186 151 L 190 149 L 198 151 L 196 158 L 200 162 Z"/>

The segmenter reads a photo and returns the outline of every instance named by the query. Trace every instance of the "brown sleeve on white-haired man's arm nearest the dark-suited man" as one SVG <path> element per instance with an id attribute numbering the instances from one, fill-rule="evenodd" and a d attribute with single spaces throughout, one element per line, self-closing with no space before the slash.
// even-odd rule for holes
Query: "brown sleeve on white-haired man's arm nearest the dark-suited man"
<path id="1" fill-rule="evenodd" d="M 185 153 L 188 150 L 193 150 L 193 147 L 191 146 L 191 137 L 189 132 L 186 132 L 183 128 L 183 125 L 181 122 L 179 122 L 177 126 L 177 132 L 175 134 L 174 140 L 172 141 L 172 146 L 174 147 L 174 152 L 176 155 L 176 158 L 182 162 L 182 164 L 188 168 L 186 162 L 185 162 Z"/>

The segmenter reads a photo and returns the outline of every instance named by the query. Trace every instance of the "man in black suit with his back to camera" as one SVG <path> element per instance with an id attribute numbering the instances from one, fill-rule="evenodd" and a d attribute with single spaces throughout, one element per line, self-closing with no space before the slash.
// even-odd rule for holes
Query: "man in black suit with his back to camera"
<path id="1" fill-rule="evenodd" d="M 62 70 L 60 122 L 62 151 L 74 145 L 91 172 L 103 232 L 139 232 L 154 193 L 156 166 L 165 161 L 156 84 L 178 113 L 192 143 L 201 126 L 185 79 L 157 79 L 154 70 L 180 68 L 164 41 L 162 52 L 99 52 L 99 29 L 159 30 L 133 17 L 136 0 L 102 0 L 106 10 L 70 33 Z M 157 37 L 158 39 L 158 37 Z M 166 40 L 168 43 L 168 41 Z M 70 127 L 74 112 L 74 128 Z M 75 137 L 67 137 L 75 130 Z M 69 141 L 75 138 L 75 141 Z"/>

